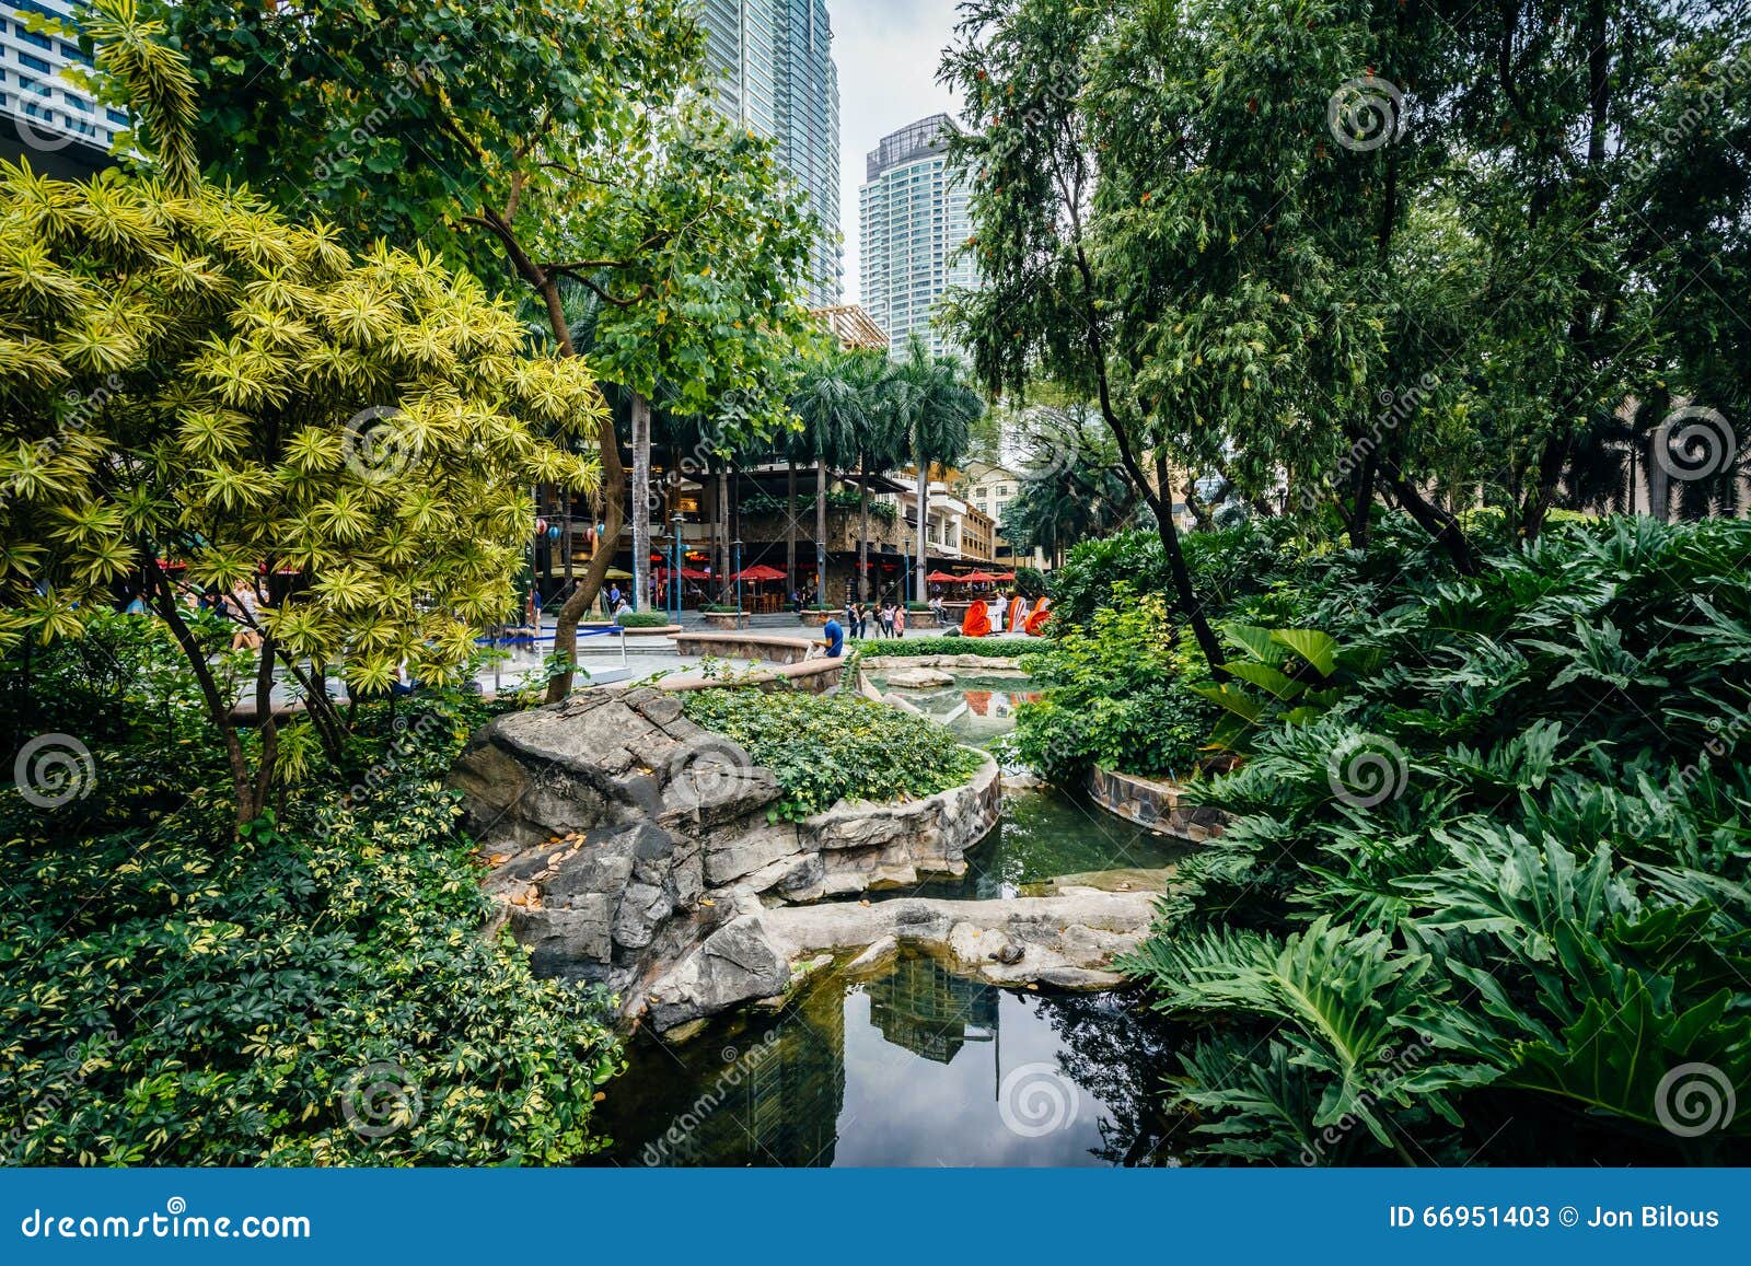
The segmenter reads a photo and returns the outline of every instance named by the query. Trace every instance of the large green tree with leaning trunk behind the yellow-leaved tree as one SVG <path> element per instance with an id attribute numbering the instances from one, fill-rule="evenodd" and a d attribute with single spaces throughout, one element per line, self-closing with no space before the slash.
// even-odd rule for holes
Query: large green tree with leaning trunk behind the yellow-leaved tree
<path id="1" fill-rule="evenodd" d="M 627 390 L 634 590 L 648 592 L 653 401 L 772 429 L 767 378 L 802 327 L 793 294 L 812 222 L 772 145 L 718 121 L 692 84 L 702 33 L 685 0 L 420 7 L 364 0 L 259 9 L 166 4 L 201 74 L 205 161 L 285 203 L 466 261 L 525 287 L 562 355 L 567 287 L 594 291 L 592 368 Z M 387 84 L 387 91 L 385 91 Z M 658 399 L 658 392 L 662 397 Z M 725 401 L 748 401 L 725 410 Z M 625 468 L 595 434 L 602 525 L 560 611 L 552 697 L 573 685 L 576 629 L 613 564 Z"/>

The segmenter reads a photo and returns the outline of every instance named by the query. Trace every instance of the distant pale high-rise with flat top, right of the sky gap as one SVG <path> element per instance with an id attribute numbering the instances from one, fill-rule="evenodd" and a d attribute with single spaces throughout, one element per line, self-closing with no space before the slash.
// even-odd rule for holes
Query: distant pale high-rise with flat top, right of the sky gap
<path id="1" fill-rule="evenodd" d="M 956 257 L 974 228 L 967 184 L 949 170 L 953 128 L 949 116 L 933 114 L 884 137 L 868 156 L 858 207 L 863 306 L 895 350 L 918 333 L 933 354 L 956 354 L 932 317 L 946 291 L 979 284 L 970 254 Z"/>

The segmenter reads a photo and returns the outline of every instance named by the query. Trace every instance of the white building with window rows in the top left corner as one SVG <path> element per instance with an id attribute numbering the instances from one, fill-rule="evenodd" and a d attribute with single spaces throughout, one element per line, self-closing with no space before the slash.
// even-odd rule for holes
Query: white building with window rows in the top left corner
<path id="1" fill-rule="evenodd" d="M 35 32 L 32 16 L 72 25 L 74 0 L 0 4 L 0 158 L 25 158 L 63 179 L 109 165 L 128 116 L 100 105 L 61 72 L 91 61 L 65 35 Z"/>

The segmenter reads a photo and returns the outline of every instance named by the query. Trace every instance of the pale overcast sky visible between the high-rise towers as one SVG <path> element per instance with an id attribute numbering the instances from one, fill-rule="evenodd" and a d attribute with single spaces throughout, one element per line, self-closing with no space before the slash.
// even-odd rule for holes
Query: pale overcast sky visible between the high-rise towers
<path id="1" fill-rule="evenodd" d="M 881 138 L 960 102 L 937 82 L 956 0 L 828 0 L 839 63 L 839 212 L 846 235 L 846 303 L 860 303 L 858 189 Z"/>

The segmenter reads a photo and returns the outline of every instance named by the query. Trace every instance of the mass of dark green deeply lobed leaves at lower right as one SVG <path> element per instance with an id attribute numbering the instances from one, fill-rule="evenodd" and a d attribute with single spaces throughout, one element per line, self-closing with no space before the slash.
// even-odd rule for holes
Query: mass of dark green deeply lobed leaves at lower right
<path id="1" fill-rule="evenodd" d="M 1751 1159 L 1742 1115 L 1662 1121 L 1676 1068 L 1751 1080 L 1751 524 L 1424 553 L 1273 597 L 1369 667 L 1192 788 L 1231 821 L 1124 965 L 1212 1023 L 1177 1079 L 1208 1154 Z"/>

